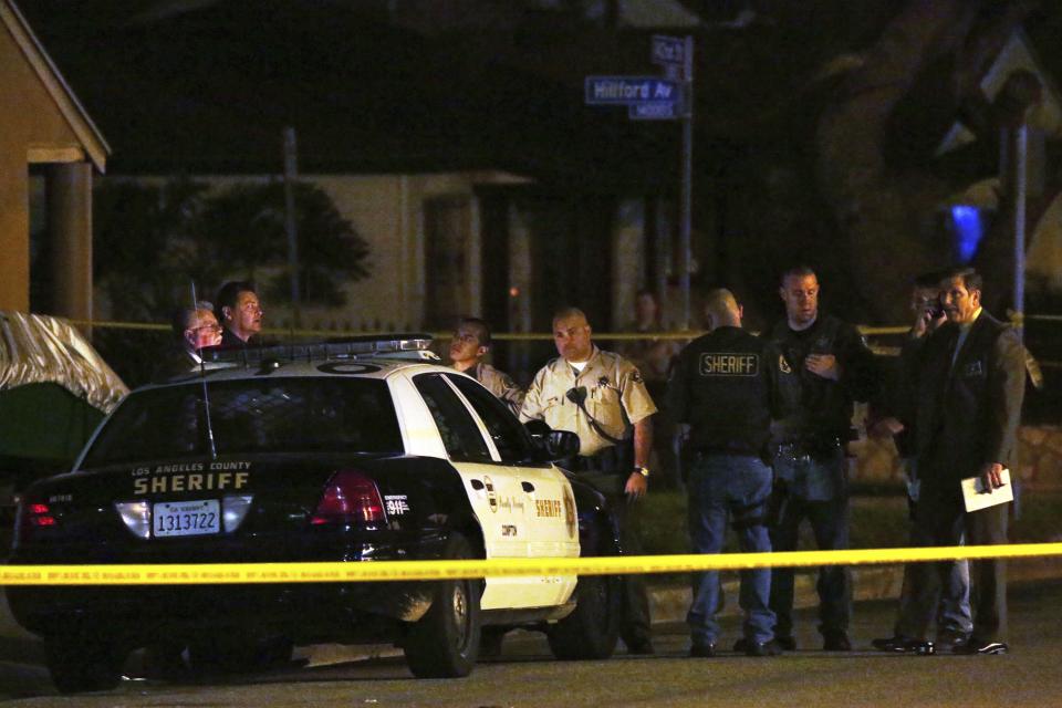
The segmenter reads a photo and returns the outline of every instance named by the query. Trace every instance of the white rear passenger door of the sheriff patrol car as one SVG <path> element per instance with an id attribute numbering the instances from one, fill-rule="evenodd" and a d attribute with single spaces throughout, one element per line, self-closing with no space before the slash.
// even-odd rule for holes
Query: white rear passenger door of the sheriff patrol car
<path id="1" fill-rule="evenodd" d="M 461 476 L 483 532 L 487 558 L 527 558 L 530 534 L 519 479 L 498 465 L 481 424 L 441 374 L 419 374 L 413 383 L 435 419 L 450 464 Z M 537 606 L 524 592 L 527 580 L 488 577 L 480 606 Z"/>

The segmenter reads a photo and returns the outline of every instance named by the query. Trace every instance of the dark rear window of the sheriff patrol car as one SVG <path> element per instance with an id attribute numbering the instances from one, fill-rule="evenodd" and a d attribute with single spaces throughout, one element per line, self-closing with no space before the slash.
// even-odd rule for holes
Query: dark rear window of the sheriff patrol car
<path id="1" fill-rule="evenodd" d="M 219 455 L 400 454 L 391 392 L 378 379 L 256 378 L 211 382 L 209 428 Z M 201 383 L 131 394 L 82 467 L 209 455 Z"/>

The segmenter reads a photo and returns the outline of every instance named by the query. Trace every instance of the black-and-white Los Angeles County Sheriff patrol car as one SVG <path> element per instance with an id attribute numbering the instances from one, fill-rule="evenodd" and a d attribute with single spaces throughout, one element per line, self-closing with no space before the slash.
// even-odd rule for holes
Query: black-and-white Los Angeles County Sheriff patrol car
<path id="1" fill-rule="evenodd" d="M 12 563 L 569 558 L 620 552 L 603 498 L 426 335 L 239 350 L 129 394 L 74 469 L 35 483 Z M 531 425 L 531 424 L 529 424 Z M 541 426 L 541 424 L 538 424 Z M 562 658 L 616 643 L 615 579 L 12 587 L 63 691 L 129 650 L 247 669 L 293 644 L 391 641 L 418 677 L 465 676 L 481 632 L 548 633 Z"/>

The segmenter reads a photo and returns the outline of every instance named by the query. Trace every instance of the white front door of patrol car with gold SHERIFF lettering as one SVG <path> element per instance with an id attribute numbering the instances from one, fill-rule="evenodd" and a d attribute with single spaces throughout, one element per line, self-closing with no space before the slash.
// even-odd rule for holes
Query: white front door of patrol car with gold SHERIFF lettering
<path id="1" fill-rule="evenodd" d="M 533 445 L 523 425 L 493 394 L 467 376 L 447 379 L 475 410 L 498 455 L 519 487 L 529 558 L 571 558 L 580 553 L 575 499 L 568 478 L 550 462 L 533 461 Z M 563 603 L 575 587 L 575 576 L 527 579 L 527 593 L 539 606 Z"/>

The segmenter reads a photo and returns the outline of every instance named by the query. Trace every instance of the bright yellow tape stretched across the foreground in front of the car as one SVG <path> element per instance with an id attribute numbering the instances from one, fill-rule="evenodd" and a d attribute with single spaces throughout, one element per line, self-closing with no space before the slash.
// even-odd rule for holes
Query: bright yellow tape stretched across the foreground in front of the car
<path id="1" fill-rule="evenodd" d="M 456 580 L 462 577 L 688 573 L 758 568 L 924 563 L 960 559 L 1014 559 L 1055 555 L 1062 555 L 1062 543 L 794 551 L 785 553 L 720 553 L 711 555 L 613 555 L 606 558 L 514 558 L 458 561 L 4 565 L 0 566 L 0 585 L 352 583 Z"/>

